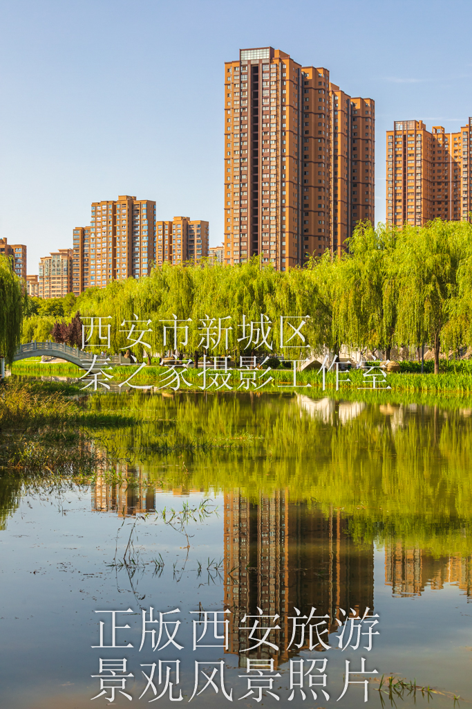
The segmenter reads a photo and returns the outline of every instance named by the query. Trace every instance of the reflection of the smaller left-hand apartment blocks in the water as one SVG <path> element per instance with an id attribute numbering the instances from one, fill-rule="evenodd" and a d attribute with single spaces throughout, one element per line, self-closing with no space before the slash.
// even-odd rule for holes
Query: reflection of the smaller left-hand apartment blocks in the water
<path id="1" fill-rule="evenodd" d="M 97 474 L 92 488 L 92 510 L 116 512 L 120 517 L 130 517 L 155 512 L 156 496 L 161 493 L 187 497 L 192 493 L 202 492 L 196 488 L 156 487 L 140 466 L 120 465 L 114 472 L 119 476 L 120 482 L 110 483 L 110 473 Z"/>

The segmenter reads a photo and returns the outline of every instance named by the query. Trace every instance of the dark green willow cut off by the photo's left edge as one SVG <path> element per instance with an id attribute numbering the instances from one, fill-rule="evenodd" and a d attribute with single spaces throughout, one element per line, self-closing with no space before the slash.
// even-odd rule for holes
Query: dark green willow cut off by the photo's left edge
<path id="1" fill-rule="evenodd" d="M 23 314 L 21 280 L 13 273 L 8 257 L 0 256 L 0 357 L 11 364 L 20 344 Z"/>

